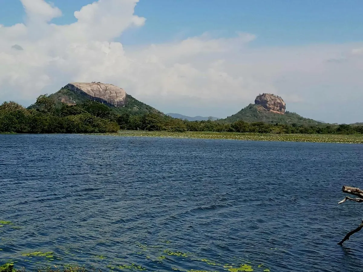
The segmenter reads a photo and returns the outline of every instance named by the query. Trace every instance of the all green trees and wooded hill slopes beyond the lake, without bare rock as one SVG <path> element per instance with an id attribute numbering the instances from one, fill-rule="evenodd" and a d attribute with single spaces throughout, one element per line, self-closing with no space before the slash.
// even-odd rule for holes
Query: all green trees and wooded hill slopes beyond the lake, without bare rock
<path id="1" fill-rule="evenodd" d="M 0 106 L 0 133 L 106 133 L 117 132 L 119 129 L 178 133 L 254 133 L 264 134 L 265 137 L 272 140 L 297 138 L 296 136 L 283 136 L 285 134 L 363 134 L 363 125 L 360 124 L 325 124 L 303 118 L 295 113 L 286 112 L 286 114 L 280 115 L 258 110 L 257 106 L 253 104 L 226 119 L 215 121 L 181 120 L 166 116 L 155 108 L 136 100 L 131 95 L 126 96 L 124 107 L 112 107 L 91 101 L 86 96 L 68 88 L 62 88 L 50 96 L 39 96 L 36 103 L 28 109 L 15 102 L 5 102 Z M 282 136 L 268 136 L 269 134 Z M 250 139 L 250 137 L 252 136 L 243 136 L 242 138 Z M 298 136 L 298 138 L 301 137 Z M 260 138 L 257 137 L 256 139 Z M 302 137 L 301 139 L 305 140 L 305 138 Z M 319 141 L 323 138 L 314 136 L 309 141 Z M 332 141 L 335 140 L 334 138 Z M 348 140 L 339 140 L 339 142 L 346 141 Z"/>

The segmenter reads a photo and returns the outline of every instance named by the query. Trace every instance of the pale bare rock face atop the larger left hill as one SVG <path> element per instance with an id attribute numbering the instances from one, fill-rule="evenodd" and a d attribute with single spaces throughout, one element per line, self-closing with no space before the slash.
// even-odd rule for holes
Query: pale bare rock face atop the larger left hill
<path id="1" fill-rule="evenodd" d="M 65 87 L 79 94 L 86 95 L 89 99 L 97 100 L 110 106 L 125 106 L 126 92 L 122 88 L 111 84 L 73 82 Z"/>

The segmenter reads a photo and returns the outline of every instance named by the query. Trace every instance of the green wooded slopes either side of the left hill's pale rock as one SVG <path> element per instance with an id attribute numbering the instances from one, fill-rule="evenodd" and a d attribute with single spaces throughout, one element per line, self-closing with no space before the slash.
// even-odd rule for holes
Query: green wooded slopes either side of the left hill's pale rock
<path id="1" fill-rule="evenodd" d="M 56 101 L 57 106 L 61 106 L 62 103 L 76 105 L 82 104 L 86 100 L 89 100 L 86 96 L 81 95 L 77 92 L 70 90 L 69 88 L 63 87 L 61 90 L 57 91 L 54 94 L 49 95 L 49 98 L 52 98 Z M 32 106 L 30 106 L 32 107 Z M 124 107 L 111 107 L 115 114 L 123 114 L 128 112 L 130 115 L 143 115 L 146 113 L 155 113 L 163 115 L 161 111 L 156 110 L 155 108 L 140 102 L 129 94 L 126 94 L 126 103 Z"/>

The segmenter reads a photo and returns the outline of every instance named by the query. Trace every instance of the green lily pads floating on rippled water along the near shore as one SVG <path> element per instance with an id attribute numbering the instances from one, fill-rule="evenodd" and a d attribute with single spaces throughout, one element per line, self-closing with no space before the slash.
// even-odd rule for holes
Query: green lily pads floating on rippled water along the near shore
<path id="1" fill-rule="evenodd" d="M 3 221 L 9 222 L 9 221 Z M 11 223 L 8 223 L 8 225 Z M 127 256 L 114 252 L 112 255 L 86 252 L 84 248 L 57 247 L 54 251 L 40 248 L 28 252 L 16 250 L 16 246 L 10 252 L 12 259 L 0 259 L 4 265 L 0 265 L 0 272 L 87 272 L 87 271 L 182 271 L 182 272 L 213 272 L 213 271 L 256 271 L 269 272 L 268 265 L 261 262 L 246 260 L 241 257 L 227 256 L 200 256 L 193 252 L 180 250 L 170 241 L 162 241 L 161 244 L 147 245 L 135 242 L 130 245 L 134 250 L 128 250 Z M 72 252 L 72 253 L 71 253 Z M 9 253 L 9 252 L 8 252 Z M 74 253 L 74 254 L 73 254 Z M 82 264 L 67 264 L 65 260 L 81 260 Z M 86 259 L 88 256 L 88 260 Z M 137 262 L 133 260 L 138 260 Z M 89 262 L 89 265 L 84 263 Z M 21 263 L 21 264 L 20 264 Z M 97 263 L 95 266 L 95 263 Z M 29 267 L 21 267 L 29 264 Z M 17 267 L 15 267 L 15 265 Z M 176 267 L 177 266 L 177 267 Z M 34 269 L 35 268 L 35 269 Z"/>

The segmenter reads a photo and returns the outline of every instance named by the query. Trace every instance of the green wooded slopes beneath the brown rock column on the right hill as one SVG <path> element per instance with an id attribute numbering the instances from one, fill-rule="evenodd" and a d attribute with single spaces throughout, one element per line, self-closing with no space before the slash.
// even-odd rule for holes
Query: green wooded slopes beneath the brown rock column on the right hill
<path id="1" fill-rule="evenodd" d="M 303 118 L 294 112 L 286 112 L 285 114 L 277 114 L 267 110 L 259 110 L 255 104 L 249 104 L 236 114 L 228 116 L 223 121 L 233 123 L 238 120 L 243 120 L 248 123 L 264 122 L 270 124 L 287 124 L 287 125 L 317 125 L 321 124 L 319 121 L 313 119 Z"/>

